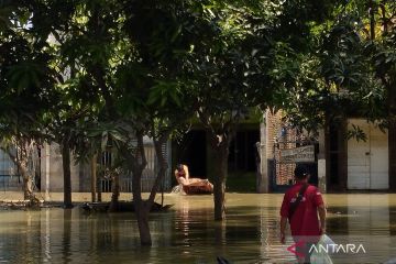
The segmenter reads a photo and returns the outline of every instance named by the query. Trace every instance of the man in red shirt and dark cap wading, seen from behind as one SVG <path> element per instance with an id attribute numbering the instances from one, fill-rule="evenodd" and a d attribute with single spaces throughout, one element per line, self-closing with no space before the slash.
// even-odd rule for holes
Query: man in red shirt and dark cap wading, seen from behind
<path id="1" fill-rule="evenodd" d="M 290 223 L 298 263 L 310 263 L 310 246 L 326 233 L 326 208 L 319 189 L 308 184 L 306 166 L 297 165 L 296 184 L 284 196 L 280 208 L 280 242 L 285 243 L 287 220 Z M 301 196 L 298 198 L 298 196 Z M 318 219 L 319 215 L 319 219 Z"/>

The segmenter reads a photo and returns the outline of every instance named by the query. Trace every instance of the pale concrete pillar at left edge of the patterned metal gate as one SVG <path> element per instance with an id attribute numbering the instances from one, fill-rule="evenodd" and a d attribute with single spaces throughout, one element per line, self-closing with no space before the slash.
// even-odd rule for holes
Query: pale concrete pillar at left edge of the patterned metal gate
<path id="1" fill-rule="evenodd" d="M 257 151 L 260 153 L 260 173 L 257 173 L 257 193 L 268 193 L 268 161 L 266 155 L 266 142 L 267 142 L 267 111 L 265 111 L 264 120 L 260 123 L 260 145 Z"/>

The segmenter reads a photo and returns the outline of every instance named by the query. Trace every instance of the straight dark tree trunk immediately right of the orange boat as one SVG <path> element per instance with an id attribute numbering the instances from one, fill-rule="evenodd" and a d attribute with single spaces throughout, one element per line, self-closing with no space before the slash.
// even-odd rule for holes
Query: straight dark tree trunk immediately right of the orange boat
<path id="1" fill-rule="evenodd" d="M 228 175 L 228 144 L 220 144 L 215 150 L 216 169 L 213 179 L 215 220 L 226 218 L 226 179 Z"/>

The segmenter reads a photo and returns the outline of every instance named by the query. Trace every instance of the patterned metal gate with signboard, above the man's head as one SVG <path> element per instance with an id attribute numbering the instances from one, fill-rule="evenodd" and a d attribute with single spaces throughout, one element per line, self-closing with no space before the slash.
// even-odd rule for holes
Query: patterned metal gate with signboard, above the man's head
<path id="1" fill-rule="evenodd" d="M 272 191 L 285 191 L 294 184 L 294 169 L 305 164 L 309 170 L 309 183 L 318 185 L 319 144 L 317 141 L 275 141 L 273 160 L 270 160 L 270 186 Z"/>

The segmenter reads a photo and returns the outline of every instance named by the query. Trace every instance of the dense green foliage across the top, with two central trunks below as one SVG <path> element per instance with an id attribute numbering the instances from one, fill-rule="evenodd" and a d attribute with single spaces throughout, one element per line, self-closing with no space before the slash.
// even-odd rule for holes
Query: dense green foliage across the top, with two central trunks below
<path id="1" fill-rule="evenodd" d="M 133 175 L 142 243 L 151 244 L 147 216 L 167 169 L 162 146 L 194 118 L 219 164 L 217 219 L 229 145 L 251 108 L 284 109 L 308 130 L 345 117 L 396 124 L 393 1 L 4 0 L 0 8 L 2 139 L 56 141 L 65 156 L 72 150 L 86 160 L 111 142 Z M 161 163 L 145 201 L 144 135 Z"/>

